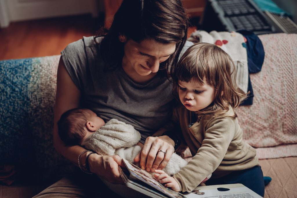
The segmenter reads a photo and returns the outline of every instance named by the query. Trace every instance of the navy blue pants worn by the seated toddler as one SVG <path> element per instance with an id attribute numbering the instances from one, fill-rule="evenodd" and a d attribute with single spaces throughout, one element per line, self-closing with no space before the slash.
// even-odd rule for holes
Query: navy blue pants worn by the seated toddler
<path id="1" fill-rule="evenodd" d="M 220 185 L 241 183 L 252 191 L 264 197 L 264 180 L 263 172 L 260 166 L 250 169 L 231 172 L 221 178 L 210 178 L 206 181 L 206 185 Z"/>

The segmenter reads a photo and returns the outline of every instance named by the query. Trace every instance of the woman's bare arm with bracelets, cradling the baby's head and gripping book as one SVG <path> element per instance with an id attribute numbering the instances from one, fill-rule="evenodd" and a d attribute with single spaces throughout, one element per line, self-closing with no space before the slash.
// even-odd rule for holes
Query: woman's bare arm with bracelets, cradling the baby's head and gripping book
<path id="1" fill-rule="evenodd" d="M 57 121 L 67 110 L 79 107 L 80 94 L 80 91 L 70 78 L 63 60 L 60 58 L 57 73 L 56 103 L 54 107 L 53 141 L 56 150 L 76 166 L 78 166 L 79 154 L 86 149 L 78 145 L 65 146 L 58 134 Z M 84 163 L 86 160 L 88 153 L 89 152 L 84 153 L 81 157 L 82 163 Z M 119 165 L 123 166 L 119 156 L 99 156 L 97 154 L 92 154 L 89 157 L 89 166 L 91 172 L 102 176 L 102 178 L 112 183 L 121 183 Z"/>

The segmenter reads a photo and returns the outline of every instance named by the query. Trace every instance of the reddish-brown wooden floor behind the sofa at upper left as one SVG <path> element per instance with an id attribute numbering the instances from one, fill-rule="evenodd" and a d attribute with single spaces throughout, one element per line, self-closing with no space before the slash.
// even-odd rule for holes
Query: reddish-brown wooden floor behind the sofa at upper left
<path id="1" fill-rule="evenodd" d="M 10 23 L 0 29 L 0 60 L 59 55 L 69 43 L 94 35 L 102 23 L 91 15 Z"/>

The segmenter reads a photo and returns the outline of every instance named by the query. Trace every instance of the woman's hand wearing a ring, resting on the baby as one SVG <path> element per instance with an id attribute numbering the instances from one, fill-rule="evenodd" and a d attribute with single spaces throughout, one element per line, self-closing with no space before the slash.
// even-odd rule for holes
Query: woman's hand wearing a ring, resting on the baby
<path id="1" fill-rule="evenodd" d="M 174 152 L 174 141 L 167 135 L 159 137 L 148 137 L 144 142 L 140 153 L 135 157 L 134 161 L 140 161 L 140 167 L 143 170 L 155 171 L 162 170 L 171 158 Z M 158 152 L 162 150 L 163 152 Z"/>

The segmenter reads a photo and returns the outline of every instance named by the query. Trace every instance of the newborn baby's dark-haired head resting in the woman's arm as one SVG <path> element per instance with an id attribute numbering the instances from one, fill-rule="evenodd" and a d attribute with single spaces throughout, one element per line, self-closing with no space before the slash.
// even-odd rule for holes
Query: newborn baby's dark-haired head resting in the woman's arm
<path id="1" fill-rule="evenodd" d="M 93 111 L 76 108 L 61 115 L 58 121 L 58 133 L 65 145 L 80 145 L 84 137 L 103 125 L 104 121 Z"/>

